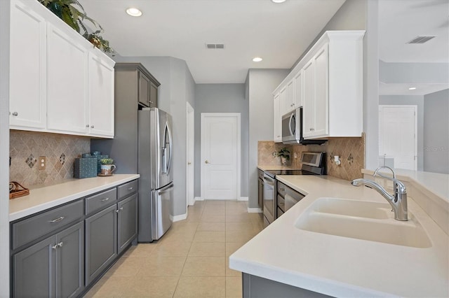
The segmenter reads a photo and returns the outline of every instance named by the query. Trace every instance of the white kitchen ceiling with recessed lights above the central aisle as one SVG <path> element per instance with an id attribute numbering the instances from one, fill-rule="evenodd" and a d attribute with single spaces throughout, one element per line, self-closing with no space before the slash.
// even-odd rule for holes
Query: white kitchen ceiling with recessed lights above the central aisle
<path id="1" fill-rule="evenodd" d="M 344 0 L 79 2 L 121 56 L 172 56 L 187 62 L 196 83 L 244 83 L 251 68 L 290 69 Z M 130 6 L 142 17 L 126 15 Z M 256 56 L 263 61 L 253 62 Z"/>

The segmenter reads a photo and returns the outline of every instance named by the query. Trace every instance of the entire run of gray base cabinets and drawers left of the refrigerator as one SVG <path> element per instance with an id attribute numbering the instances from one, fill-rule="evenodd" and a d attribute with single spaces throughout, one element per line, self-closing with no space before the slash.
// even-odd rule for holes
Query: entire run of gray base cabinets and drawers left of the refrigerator
<path id="1" fill-rule="evenodd" d="M 138 236 L 138 180 L 11 222 L 11 297 L 81 297 Z"/>

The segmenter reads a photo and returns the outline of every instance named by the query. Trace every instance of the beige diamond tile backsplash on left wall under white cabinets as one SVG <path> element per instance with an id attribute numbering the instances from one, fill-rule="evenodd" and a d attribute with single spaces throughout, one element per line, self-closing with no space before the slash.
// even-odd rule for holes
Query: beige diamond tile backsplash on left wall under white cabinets
<path id="1" fill-rule="evenodd" d="M 83 136 L 10 130 L 9 137 L 9 180 L 25 187 L 73 178 L 74 159 L 91 151 Z M 45 169 L 39 170 L 39 156 L 46 157 Z"/>

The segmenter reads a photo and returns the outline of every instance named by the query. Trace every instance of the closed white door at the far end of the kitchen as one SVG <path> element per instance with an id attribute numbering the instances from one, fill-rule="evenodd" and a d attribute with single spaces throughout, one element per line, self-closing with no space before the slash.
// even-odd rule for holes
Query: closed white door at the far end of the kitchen
<path id="1" fill-rule="evenodd" d="M 240 113 L 201 113 L 201 197 L 240 197 Z"/>

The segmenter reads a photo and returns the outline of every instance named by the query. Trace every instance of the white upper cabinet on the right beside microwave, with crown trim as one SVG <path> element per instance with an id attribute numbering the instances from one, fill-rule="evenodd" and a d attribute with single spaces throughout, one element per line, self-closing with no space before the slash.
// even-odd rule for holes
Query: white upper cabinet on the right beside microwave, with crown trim
<path id="1" fill-rule="evenodd" d="M 274 90 L 295 81 L 291 109 L 303 106 L 304 139 L 361 136 L 364 34 L 326 31 Z"/>

